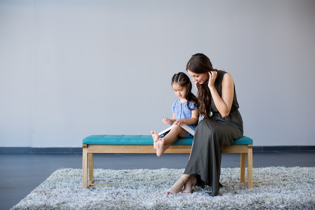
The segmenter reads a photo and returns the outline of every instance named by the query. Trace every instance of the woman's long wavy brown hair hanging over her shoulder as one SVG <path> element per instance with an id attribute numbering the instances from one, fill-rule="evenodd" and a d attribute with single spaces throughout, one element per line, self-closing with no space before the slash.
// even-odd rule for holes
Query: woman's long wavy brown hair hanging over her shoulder
<path id="1" fill-rule="evenodd" d="M 195 74 L 203 74 L 210 71 L 216 71 L 218 72 L 218 76 L 222 72 L 214 69 L 212 67 L 210 59 L 202 53 L 192 55 L 186 66 L 186 71 L 188 70 Z M 208 88 L 208 82 L 205 82 L 204 84 L 197 83 L 197 88 L 199 114 L 202 115 L 204 118 L 209 118 L 208 113 L 211 107 L 211 93 Z"/>

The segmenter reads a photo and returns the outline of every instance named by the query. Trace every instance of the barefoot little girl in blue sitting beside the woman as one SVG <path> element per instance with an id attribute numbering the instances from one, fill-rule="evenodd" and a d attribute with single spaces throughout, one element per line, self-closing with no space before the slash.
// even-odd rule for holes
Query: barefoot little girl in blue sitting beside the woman
<path id="1" fill-rule="evenodd" d="M 191 82 L 185 73 L 175 74 L 172 78 L 172 87 L 178 99 L 173 102 L 172 119 L 163 118 L 164 124 L 178 125 L 173 127 L 164 137 L 151 130 L 153 138 L 153 148 L 156 150 L 157 157 L 161 157 L 163 153 L 179 138 L 193 137 L 192 134 L 184 130 L 181 125 L 186 123 L 195 130 L 199 112 L 197 107 L 197 97 L 191 92 Z"/>

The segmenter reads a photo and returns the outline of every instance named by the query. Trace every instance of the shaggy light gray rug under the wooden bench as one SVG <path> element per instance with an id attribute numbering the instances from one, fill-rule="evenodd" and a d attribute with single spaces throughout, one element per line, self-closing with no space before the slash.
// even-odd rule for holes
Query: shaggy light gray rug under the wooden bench
<path id="1" fill-rule="evenodd" d="M 62 168 L 13 209 L 315 209 L 314 167 L 254 168 L 254 187 L 239 182 L 240 168 L 221 168 L 219 195 L 211 188 L 166 195 L 184 169 L 95 169 L 97 183 L 82 188 L 82 169 Z"/>

